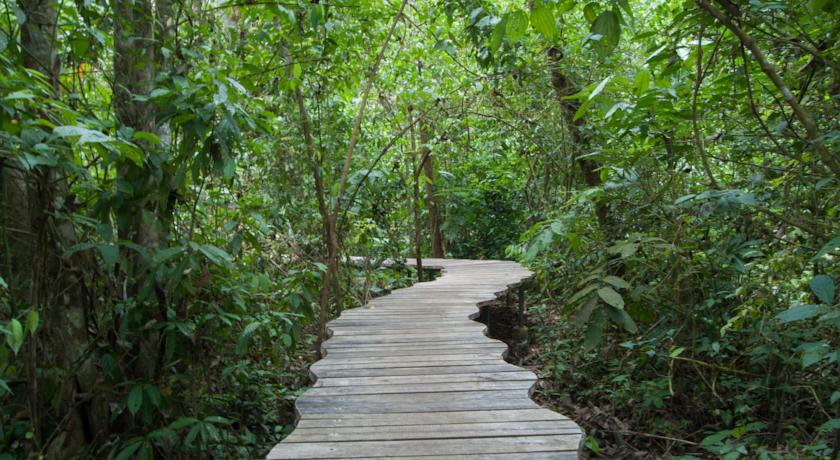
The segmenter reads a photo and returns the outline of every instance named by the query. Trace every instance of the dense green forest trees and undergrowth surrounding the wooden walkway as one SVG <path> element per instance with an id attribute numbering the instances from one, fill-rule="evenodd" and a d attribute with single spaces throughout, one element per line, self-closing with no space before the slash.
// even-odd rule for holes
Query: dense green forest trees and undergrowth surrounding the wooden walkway
<path id="1" fill-rule="evenodd" d="M 836 456 L 837 11 L 3 2 L 0 458 L 263 456 L 418 254 L 537 273 L 591 455 Z"/>

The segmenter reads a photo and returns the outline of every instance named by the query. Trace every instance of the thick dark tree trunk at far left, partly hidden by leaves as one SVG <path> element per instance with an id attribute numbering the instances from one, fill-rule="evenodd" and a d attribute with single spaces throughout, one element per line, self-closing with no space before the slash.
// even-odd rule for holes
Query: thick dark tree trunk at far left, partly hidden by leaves
<path id="1" fill-rule="evenodd" d="M 27 21 L 21 27 L 22 64 L 44 74 L 54 92 L 60 89 L 57 57 L 57 2 L 20 1 Z M 87 313 L 81 282 L 63 258 L 76 243 L 72 223 L 56 217 L 69 214 L 67 181 L 57 168 L 24 170 L 0 158 L 0 222 L 3 252 L 0 274 L 10 281 L 13 301 L 39 311 L 42 326 L 26 344 L 27 403 L 34 448 L 47 458 L 64 458 L 81 449 L 107 427 L 107 405 L 96 391 L 101 383 L 88 353 Z M 6 216 L 8 218 L 6 218 Z M 57 397 L 43 401 L 38 368 L 67 372 L 56 382 Z M 79 395 L 90 395 L 81 401 Z M 44 429 L 64 420 L 61 432 L 46 436 Z M 46 421 L 46 423 L 42 423 Z M 45 439 L 48 445 L 43 445 Z"/>

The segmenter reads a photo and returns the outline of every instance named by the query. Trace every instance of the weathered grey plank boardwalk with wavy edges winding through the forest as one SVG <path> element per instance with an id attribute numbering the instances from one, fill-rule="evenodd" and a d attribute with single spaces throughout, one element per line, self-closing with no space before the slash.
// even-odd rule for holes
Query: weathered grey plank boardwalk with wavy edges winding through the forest
<path id="1" fill-rule="evenodd" d="M 507 261 L 423 265 L 443 275 L 329 323 L 297 427 L 269 459 L 577 458 L 578 426 L 534 403 L 536 376 L 470 319 L 531 273 Z"/>

